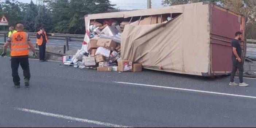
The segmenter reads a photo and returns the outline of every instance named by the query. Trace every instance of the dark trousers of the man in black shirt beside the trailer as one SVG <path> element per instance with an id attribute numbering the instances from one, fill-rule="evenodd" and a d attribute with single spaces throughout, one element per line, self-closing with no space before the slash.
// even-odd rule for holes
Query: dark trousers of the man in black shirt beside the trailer
<path id="1" fill-rule="evenodd" d="M 233 68 L 232 68 L 232 72 L 230 75 L 230 82 L 234 82 L 234 75 L 236 74 L 236 71 L 238 69 L 239 71 L 239 81 L 240 83 L 243 83 L 243 73 L 244 73 L 244 63 L 242 62 L 238 62 L 237 59 L 232 59 L 233 62 Z"/>

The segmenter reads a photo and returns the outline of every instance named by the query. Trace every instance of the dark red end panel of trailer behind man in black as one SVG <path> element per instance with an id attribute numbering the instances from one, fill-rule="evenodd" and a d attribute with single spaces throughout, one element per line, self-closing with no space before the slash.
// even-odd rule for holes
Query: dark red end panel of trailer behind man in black
<path id="1" fill-rule="evenodd" d="M 211 74 L 228 74 L 232 70 L 231 40 L 240 31 L 245 35 L 245 17 L 228 9 L 210 5 L 210 49 Z M 246 38 L 241 40 L 243 56 L 246 51 Z M 245 46 L 245 47 L 244 47 Z"/>

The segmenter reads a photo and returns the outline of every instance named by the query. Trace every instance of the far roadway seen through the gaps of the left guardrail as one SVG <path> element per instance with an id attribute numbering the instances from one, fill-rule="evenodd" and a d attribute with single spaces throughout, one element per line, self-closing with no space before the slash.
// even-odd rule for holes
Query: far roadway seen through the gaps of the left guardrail
<path id="1" fill-rule="evenodd" d="M 32 43 L 35 45 L 36 43 L 36 38 L 31 38 Z M 0 36 L 0 42 L 3 42 L 4 38 Z M 82 47 L 81 41 L 70 41 L 69 42 L 69 47 L 73 48 L 81 48 Z M 58 47 L 63 47 L 66 44 L 65 40 L 58 40 L 58 39 L 49 39 L 49 43 L 47 43 L 47 46 L 58 46 Z"/>

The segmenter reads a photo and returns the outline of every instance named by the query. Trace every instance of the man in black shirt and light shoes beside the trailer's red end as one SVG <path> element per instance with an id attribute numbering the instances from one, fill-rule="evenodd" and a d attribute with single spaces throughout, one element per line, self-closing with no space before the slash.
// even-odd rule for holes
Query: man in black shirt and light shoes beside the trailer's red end
<path id="1" fill-rule="evenodd" d="M 230 75 L 229 85 L 248 86 L 248 84 L 243 82 L 244 63 L 241 59 L 242 49 L 240 45 L 240 40 L 243 38 L 243 36 L 241 32 L 236 32 L 235 36 L 236 37 L 231 42 L 233 68 Z M 239 84 L 234 82 L 234 75 L 236 74 L 237 69 L 239 71 Z"/>

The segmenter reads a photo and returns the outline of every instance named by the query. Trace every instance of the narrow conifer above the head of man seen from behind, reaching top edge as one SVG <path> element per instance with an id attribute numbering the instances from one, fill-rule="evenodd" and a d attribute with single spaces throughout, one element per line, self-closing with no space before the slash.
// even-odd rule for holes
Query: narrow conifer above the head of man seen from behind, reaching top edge
<path id="1" fill-rule="evenodd" d="M 37 14 L 38 14 L 37 6 L 31 0 L 29 7 L 26 10 L 26 15 L 23 18 L 24 28 L 28 32 L 35 32 L 35 19 Z"/>

